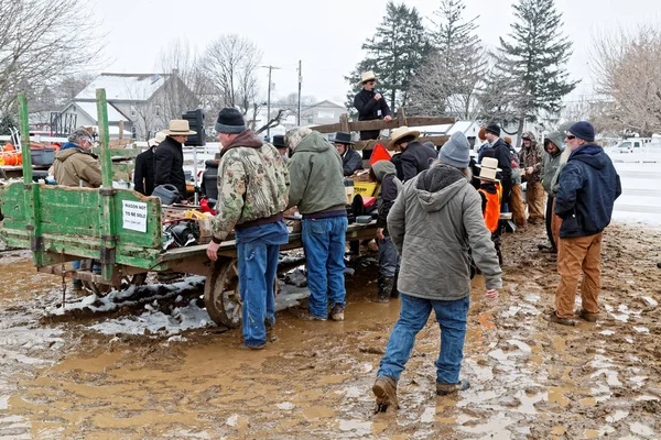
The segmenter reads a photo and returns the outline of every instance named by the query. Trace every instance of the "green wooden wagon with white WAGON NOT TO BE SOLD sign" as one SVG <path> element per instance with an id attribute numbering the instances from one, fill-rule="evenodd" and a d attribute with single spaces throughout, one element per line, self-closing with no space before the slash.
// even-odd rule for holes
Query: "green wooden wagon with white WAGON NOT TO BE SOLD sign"
<path id="1" fill-rule="evenodd" d="M 28 105 L 19 97 L 21 136 L 29 139 Z M 29 143 L 22 142 L 23 182 L 0 187 L 0 212 L 4 216 L 0 237 L 8 245 L 32 251 L 39 272 L 75 276 L 93 292 L 144 284 L 150 272 L 175 272 L 206 276 L 205 305 L 218 324 L 237 328 L 241 320 L 237 250 L 234 241 L 221 244 L 217 262 L 206 255 L 206 244 L 163 250 L 162 207 L 155 197 L 112 187 L 108 148 L 106 92 L 97 90 L 101 188 L 50 186 L 32 182 Z M 376 224 L 350 224 L 347 240 L 375 237 Z M 301 234 L 291 233 L 282 250 L 301 248 Z M 74 271 L 66 263 L 94 258 Z"/>

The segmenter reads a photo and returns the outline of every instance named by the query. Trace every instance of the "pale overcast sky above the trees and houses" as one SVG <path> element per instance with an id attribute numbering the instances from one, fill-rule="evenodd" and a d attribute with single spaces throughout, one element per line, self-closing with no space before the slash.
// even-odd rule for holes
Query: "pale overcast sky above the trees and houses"
<path id="1" fill-rule="evenodd" d="M 425 18 L 437 0 L 405 0 Z M 251 38 L 263 51 L 263 65 L 273 70 L 272 98 L 297 90 L 296 67 L 303 62 L 303 95 L 343 103 L 348 84 L 344 76 L 362 59 L 360 46 L 373 35 L 386 13 L 387 0 L 90 0 L 94 14 L 108 34 L 102 70 L 152 73 L 161 50 L 177 40 L 192 50 L 224 33 Z M 478 33 L 495 47 L 510 32 L 512 1 L 465 0 L 466 18 L 479 15 Z M 589 94 L 588 47 L 592 35 L 641 23 L 661 23 L 659 0 L 556 0 L 564 33 L 574 42 L 568 67 L 582 79 L 577 94 Z M 260 73 L 266 97 L 267 69 Z"/>

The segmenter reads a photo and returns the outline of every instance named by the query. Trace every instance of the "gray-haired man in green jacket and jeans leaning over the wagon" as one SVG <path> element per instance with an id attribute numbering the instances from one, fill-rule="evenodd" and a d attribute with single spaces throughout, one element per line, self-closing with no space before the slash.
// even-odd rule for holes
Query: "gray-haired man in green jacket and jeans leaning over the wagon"
<path id="1" fill-rule="evenodd" d="M 344 320 L 346 251 L 346 191 L 342 157 L 316 131 L 299 128 L 284 136 L 293 151 L 289 162 L 289 207 L 303 215 L 302 241 L 307 261 L 311 320 Z"/>

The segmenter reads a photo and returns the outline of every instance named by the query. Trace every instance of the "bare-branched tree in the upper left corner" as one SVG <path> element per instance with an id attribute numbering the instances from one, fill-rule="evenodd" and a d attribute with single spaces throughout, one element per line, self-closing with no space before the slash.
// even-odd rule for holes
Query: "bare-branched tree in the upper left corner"
<path id="1" fill-rule="evenodd" d="M 0 0 L 0 112 L 88 67 L 101 47 L 91 11 L 85 0 Z"/>

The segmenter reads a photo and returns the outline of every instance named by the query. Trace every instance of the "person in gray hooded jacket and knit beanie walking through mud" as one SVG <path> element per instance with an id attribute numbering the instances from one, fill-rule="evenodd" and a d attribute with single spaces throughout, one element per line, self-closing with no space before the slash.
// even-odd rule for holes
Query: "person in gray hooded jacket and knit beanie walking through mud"
<path id="1" fill-rule="evenodd" d="M 381 411 L 399 406 L 397 382 L 432 309 L 441 326 L 436 394 L 469 387 L 458 378 L 470 294 L 469 252 L 485 276 L 487 298 L 497 297 L 502 272 L 483 218 L 481 198 L 469 183 L 468 162 L 466 136 L 453 134 L 438 161 L 404 185 L 388 215 L 390 237 L 402 255 L 401 311 L 372 387 Z"/>

